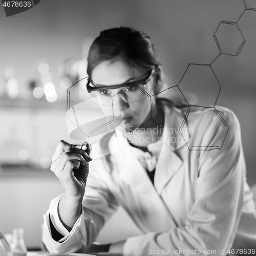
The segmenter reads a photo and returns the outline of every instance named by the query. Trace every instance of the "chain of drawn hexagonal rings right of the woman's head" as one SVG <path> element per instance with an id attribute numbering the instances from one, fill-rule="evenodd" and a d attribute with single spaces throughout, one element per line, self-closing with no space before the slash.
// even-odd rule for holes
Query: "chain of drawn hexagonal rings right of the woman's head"
<path id="1" fill-rule="evenodd" d="M 197 107 L 208 109 L 208 111 L 210 111 L 209 113 L 211 113 L 212 116 L 218 116 L 219 125 L 222 125 L 224 127 L 223 138 L 219 145 L 211 145 L 211 138 L 209 138 L 209 142 L 206 141 L 204 142 L 205 144 L 202 145 L 189 145 L 187 143 L 189 151 L 209 151 L 214 149 L 220 150 L 228 134 L 229 126 L 216 108 L 216 103 L 221 91 L 221 84 L 211 65 L 222 54 L 238 56 L 244 45 L 246 44 L 246 40 L 238 26 L 238 23 L 246 11 L 256 11 L 256 1 L 243 0 L 243 3 L 244 10 L 239 16 L 237 22 L 222 20 L 213 35 L 220 51 L 219 55 L 210 64 L 190 63 L 178 83 L 178 88 L 188 104 L 186 115 L 180 125 L 181 136 L 182 127 L 184 123 L 187 122 L 189 113 L 193 108 Z M 211 81 L 211 84 L 209 84 L 207 80 Z M 187 99 L 189 96 L 187 96 L 185 92 L 187 91 L 188 87 L 191 91 L 196 93 L 198 97 L 196 103 L 190 102 Z"/>

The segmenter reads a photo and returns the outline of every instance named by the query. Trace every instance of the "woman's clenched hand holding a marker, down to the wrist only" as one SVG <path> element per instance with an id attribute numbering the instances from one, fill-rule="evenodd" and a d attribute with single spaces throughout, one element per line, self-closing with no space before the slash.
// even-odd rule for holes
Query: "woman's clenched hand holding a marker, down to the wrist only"
<path id="1" fill-rule="evenodd" d="M 51 170 L 72 200 L 82 200 L 84 195 L 92 146 L 88 143 L 72 145 L 61 140 L 52 157 Z"/>

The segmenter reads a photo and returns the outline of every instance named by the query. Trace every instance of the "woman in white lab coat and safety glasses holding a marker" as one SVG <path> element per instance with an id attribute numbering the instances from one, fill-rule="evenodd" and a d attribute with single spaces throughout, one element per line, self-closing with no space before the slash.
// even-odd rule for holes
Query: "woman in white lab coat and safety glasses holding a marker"
<path id="1" fill-rule="evenodd" d="M 90 48 L 87 72 L 88 91 L 100 97 L 106 112 L 123 118 L 127 139 L 112 151 L 115 136 L 102 136 L 93 152 L 113 153 L 100 160 L 89 157 L 90 144 L 60 141 L 51 170 L 65 193 L 45 215 L 49 251 L 88 251 L 121 205 L 144 234 L 93 245 L 91 251 L 226 255 L 234 252 L 230 248 L 243 248 L 252 253 L 256 211 L 236 116 L 216 108 L 228 133 L 212 109 L 191 109 L 184 122 L 186 105 L 153 96 L 163 91 L 161 65 L 150 38 L 131 28 L 102 31 Z M 134 80 L 136 86 L 127 86 Z M 188 150 L 209 141 L 221 145 L 219 150 Z"/>

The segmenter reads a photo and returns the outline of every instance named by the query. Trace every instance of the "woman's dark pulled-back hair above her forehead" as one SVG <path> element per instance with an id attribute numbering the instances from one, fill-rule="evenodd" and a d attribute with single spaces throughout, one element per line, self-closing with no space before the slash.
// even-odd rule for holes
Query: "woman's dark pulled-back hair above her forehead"
<path id="1" fill-rule="evenodd" d="M 131 65 L 150 70 L 160 65 L 150 37 L 142 31 L 120 27 L 103 30 L 93 41 L 88 54 L 87 74 L 100 62 L 122 58 Z"/>

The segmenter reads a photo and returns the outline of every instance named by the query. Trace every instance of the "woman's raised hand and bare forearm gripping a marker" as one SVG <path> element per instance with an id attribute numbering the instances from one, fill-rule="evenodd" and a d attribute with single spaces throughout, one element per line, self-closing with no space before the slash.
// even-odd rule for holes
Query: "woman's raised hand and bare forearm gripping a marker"
<path id="1" fill-rule="evenodd" d="M 81 214 L 91 150 L 88 143 L 72 145 L 61 140 L 52 157 L 51 170 L 65 188 L 58 205 L 59 219 L 69 231 Z"/>

